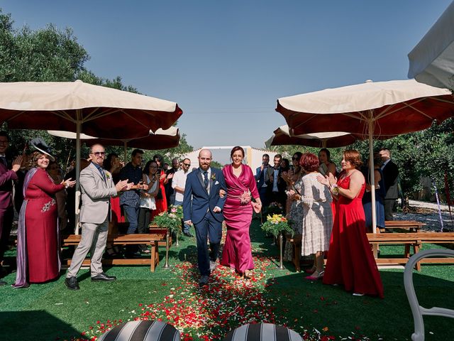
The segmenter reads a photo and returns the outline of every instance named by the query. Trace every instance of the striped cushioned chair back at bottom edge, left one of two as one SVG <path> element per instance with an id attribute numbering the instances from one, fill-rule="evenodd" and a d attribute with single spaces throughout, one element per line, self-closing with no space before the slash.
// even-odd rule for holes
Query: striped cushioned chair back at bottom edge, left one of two
<path id="1" fill-rule="evenodd" d="M 99 341 L 179 341 L 179 331 L 161 321 L 129 321 L 109 330 Z"/>

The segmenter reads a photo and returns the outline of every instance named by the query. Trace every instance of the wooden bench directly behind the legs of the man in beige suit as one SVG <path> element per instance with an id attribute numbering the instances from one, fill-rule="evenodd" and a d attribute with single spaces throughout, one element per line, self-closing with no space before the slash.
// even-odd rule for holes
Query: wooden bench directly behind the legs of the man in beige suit
<path id="1" fill-rule="evenodd" d="M 157 264 L 159 264 L 158 242 L 165 240 L 165 232 L 153 234 L 110 234 L 107 237 L 107 243 L 113 245 L 151 245 L 150 259 L 103 259 L 103 264 L 109 265 L 148 265 L 150 264 L 150 271 L 154 272 Z M 62 245 L 77 246 L 80 242 L 80 234 L 70 234 L 63 238 Z M 71 260 L 67 260 L 67 265 L 71 264 Z M 89 265 L 90 259 L 85 259 L 82 265 Z"/>

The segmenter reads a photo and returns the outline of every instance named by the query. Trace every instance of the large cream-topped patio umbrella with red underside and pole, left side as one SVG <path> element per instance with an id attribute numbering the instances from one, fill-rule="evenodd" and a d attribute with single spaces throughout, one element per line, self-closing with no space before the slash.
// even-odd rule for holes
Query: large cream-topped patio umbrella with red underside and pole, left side
<path id="1" fill-rule="evenodd" d="M 148 136 L 167 129 L 182 115 L 177 103 L 109 87 L 75 82 L 0 83 L 0 122 L 11 129 L 55 129 L 77 134 L 76 167 L 80 169 L 80 134 L 117 138 Z M 76 202 L 79 199 L 79 171 Z"/>

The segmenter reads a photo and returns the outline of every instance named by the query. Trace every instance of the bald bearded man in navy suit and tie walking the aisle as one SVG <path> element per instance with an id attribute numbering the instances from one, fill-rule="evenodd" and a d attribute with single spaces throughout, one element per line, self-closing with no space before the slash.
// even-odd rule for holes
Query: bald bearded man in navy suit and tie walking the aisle
<path id="1" fill-rule="evenodd" d="M 199 153 L 199 168 L 187 175 L 184 186 L 184 224 L 194 224 L 196 230 L 200 286 L 208 284 L 211 271 L 216 269 L 222 235 L 221 210 L 227 197 L 219 197 L 219 190 L 227 190 L 222 171 L 210 165 L 211 151 L 202 149 Z M 210 251 L 206 245 L 207 237 L 210 239 Z"/>

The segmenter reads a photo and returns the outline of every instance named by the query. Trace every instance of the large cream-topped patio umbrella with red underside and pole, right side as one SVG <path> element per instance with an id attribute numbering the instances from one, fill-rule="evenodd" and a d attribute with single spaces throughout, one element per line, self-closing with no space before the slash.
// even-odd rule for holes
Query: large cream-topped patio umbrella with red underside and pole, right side
<path id="1" fill-rule="evenodd" d="M 373 139 L 426 129 L 454 116 L 449 90 L 415 80 L 367 81 L 360 85 L 326 89 L 277 100 L 276 111 L 293 129 L 293 134 L 319 131 L 349 131 L 367 136 L 370 169 L 373 170 Z M 375 216 L 375 178 L 372 184 L 372 229 Z"/>

